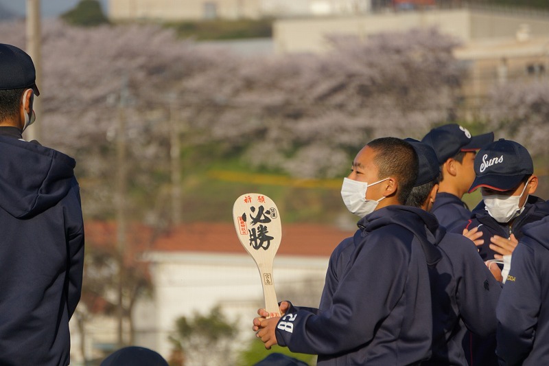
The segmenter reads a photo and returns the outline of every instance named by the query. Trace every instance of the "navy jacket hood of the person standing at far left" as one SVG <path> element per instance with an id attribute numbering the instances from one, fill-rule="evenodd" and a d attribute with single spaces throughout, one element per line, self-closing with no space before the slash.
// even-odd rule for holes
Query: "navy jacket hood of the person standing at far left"
<path id="1" fill-rule="evenodd" d="M 0 136 L 0 207 L 15 218 L 53 207 L 71 189 L 75 165 L 51 148 Z"/>

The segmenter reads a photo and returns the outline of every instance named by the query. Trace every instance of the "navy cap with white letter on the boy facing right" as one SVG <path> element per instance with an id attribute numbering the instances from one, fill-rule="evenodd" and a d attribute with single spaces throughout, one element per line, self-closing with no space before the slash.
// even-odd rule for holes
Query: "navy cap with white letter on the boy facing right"
<path id="1" fill-rule="evenodd" d="M 458 124 L 445 124 L 429 131 L 421 142 L 431 146 L 443 164 L 460 151 L 476 151 L 493 141 L 493 133 L 471 136 L 467 128 Z"/>

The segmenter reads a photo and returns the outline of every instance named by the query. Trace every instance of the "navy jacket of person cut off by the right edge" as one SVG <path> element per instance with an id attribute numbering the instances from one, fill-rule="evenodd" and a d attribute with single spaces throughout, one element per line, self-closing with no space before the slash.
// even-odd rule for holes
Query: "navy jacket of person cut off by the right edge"
<path id="1" fill-rule="evenodd" d="M 496 312 L 500 365 L 549 365 L 549 218 L 524 227 Z"/>

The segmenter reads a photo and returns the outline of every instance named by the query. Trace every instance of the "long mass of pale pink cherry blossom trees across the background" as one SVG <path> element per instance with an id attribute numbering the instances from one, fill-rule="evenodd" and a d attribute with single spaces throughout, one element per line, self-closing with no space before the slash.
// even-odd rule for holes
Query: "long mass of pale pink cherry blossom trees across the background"
<path id="1" fill-rule="evenodd" d="M 8 34 L 21 43 L 14 28 Z M 123 113 L 130 174 L 152 192 L 150 170 L 167 161 L 168 108 L 194 143 L 215 141 L 254 166 L 305 177 L 341 174 L 369 139 L 419 136 L 452 117 L 463 77 L 454 39 L 431 29 L 329 42 L 324 55 L 239 58 L 161 27 L 48 23 L 43 140 L 85 156 L 84 176 L 106 179 Z M 105 207 L 109 190 L 95 188 L 95 207 Z"/>

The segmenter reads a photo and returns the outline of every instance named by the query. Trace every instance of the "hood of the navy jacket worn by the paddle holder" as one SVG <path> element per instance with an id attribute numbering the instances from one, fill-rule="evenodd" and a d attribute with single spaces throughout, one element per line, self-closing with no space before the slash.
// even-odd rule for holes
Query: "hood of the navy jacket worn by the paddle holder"
<path id="1" fill-rule="evenodd" d="M 414 236 L 421 244 L 423 253 L 425 253 L 428 265 L 434 266 L 442 258 L 436 246 L 445 236 L 446 230 L 439 225 L 439 222 L 432 214 L 423 209 L 390 205 L 364 216 L 357 225 L 364 233 L 369 233 L 386 225 L 399 225 L 414 233 Z M 356 240 L 358 240 L 357 236 L 355 236 L 355 244 Z"/>

